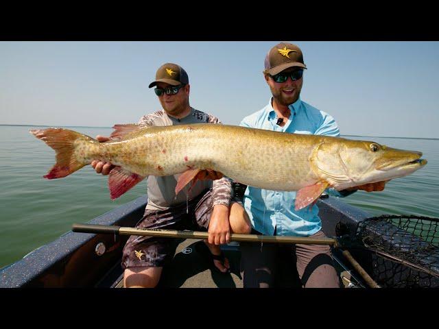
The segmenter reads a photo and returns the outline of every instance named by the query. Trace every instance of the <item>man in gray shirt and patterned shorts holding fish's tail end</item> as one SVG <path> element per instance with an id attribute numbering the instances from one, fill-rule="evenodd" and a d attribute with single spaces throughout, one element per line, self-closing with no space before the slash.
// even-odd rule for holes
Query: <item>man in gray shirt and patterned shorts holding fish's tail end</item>
<path id="1" fill-rule="evenodd" d="M 145 115 L 141 125 L 185 125 L 191 123 L 221 123 L 210 114 L 189 105 L 189 77 L 177 64 L 166 63 L 158 68 L 156 80 L 150 84 L 163 110 Z M 98 141 L 109 138 L 97 136 Z M 97 173 L 108 175 L 114 166 L 94 160 Z M 180 175 L 180 174 L 179 174 Z M 198 180 L 189 191 L 176 195 L 179 175 L 147 178 L 148 202 L 145 214 L 136 228 L 165 228 L 169 230 L 208 230 L 209 247 L 215 267 L 226 273 L 230 267 L 219 245 L 230 241 L 230 232 L 250 232 L 250 220 L 241 204 L 230 202 L 230 180 Z M 130 236 L 123 248 L 122 267 L 125 287 L 156 287 L 160 280 L 171 239 L 149 236 Z"/>

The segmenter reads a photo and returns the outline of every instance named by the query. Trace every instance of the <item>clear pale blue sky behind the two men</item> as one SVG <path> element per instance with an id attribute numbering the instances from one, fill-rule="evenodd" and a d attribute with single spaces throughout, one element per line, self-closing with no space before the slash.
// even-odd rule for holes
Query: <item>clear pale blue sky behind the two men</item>
<path id="1" fill-rule="evenodd" d="M 439 138 L 439 42 L 0 42 L 0 124 L 112 127 L 160 110 L 156 70 L 180 64 L 190 104 L 230 125 L 270 101 L 263 62 L 303 52 L 300 98 L 342 135 Z M 1 128 L 0 128 L 1 129 Z"/>

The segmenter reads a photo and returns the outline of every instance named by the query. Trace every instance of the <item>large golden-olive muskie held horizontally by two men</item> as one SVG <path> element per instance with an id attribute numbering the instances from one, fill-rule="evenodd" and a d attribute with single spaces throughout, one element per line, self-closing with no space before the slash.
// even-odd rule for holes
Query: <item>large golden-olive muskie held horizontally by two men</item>
<path id="1" fill-rule="evenodd" d="M 56 151 L 56 164 L 44 177 L 65 177 L 94 159 L 109 161 L 117 166 L 108 179 L 115 199 L 147 175 L 182 173 L 176 193 L 189 182 L 226 175 L 258 188 L 298 191 L 298 210 L 327 187 L 340 191 L 390 180 L 427 164 L 418 151 L 330 136 L 213 124 L 114 128 L 111 137 L 119 140 L 106 143 L 62 128 L 31 130 Z"/>

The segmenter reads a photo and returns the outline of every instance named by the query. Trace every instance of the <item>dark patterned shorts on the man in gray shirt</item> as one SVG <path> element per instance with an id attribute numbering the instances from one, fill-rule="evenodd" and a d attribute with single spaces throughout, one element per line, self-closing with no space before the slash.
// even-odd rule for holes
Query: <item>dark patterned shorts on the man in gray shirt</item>
<path id="1" fill-rule="evenodd" d="M 161 228 L 165 230 L 207 231 L 212 213 L 212 190 L 166 210 L 145 210 L 136 228 Z M 132 235 L 123 247 L 121 266 L 163 267 L 165 258 L 174 244 L 173 238 Z"/>

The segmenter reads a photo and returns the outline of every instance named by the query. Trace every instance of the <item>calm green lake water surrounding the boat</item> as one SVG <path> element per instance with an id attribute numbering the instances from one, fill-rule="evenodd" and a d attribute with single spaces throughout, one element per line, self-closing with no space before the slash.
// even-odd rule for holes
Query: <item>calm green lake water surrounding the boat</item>
<path id="1" fill-rule="evenodd" d="M 107 178 L 91 166 L 60 180 L 45 180 L 54 164 L 54 151 L 29 134 L 36 127 L 0 125 L 0 267 L 86 223 L 104 212 L 146 193 L 145 181 L 115 201 Z M 88 136 L 108 136 L 112 129 L 71 128 Z M 357 193 L 345 202 L 372 215 L 415 214 L 439 216 L 439 141 L 405 138 L 360 138 L 391 147 L 422 151 L 429 163 L 423 169 L 389 182 L 383 192 Z"/>

